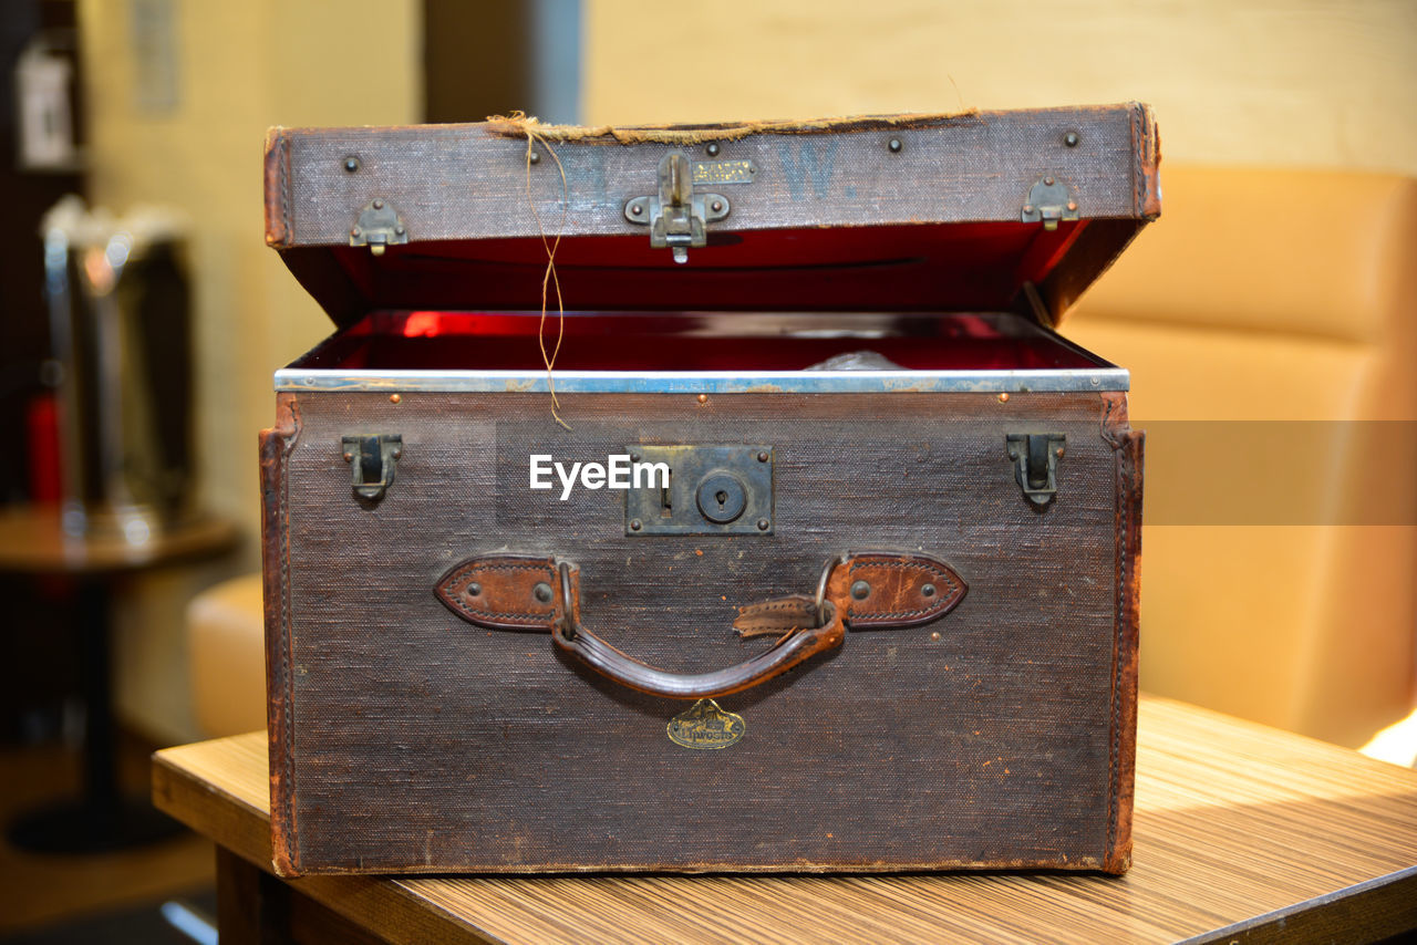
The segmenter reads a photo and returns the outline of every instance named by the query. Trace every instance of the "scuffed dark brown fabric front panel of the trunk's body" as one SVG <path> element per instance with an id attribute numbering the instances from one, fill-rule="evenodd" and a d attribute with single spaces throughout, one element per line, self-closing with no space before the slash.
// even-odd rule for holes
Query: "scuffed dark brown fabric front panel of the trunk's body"
<path id="1" fill-rule="evenodd" d="M 276 697 L 293 718 L 303 868 L 1068 868 L 1107 856 L 1132 748 L 1112 704 L 1127 473 L 1098 395 L 571 395 L 571 432 L 544 395 L 298 404 Z M 1067 435 L 1044 513 L 1005 453 L 1019 431 Z M 341 436 L 371 432 L 404 442 L 374 507 L 353 500 L 340 458 Z M 527 487 L 530 452 L 604 462 L 635 442 L 771 443 L 774 534 L 626 537 L 621 493 L 560 502 Z M 720 751 L 670 741 L 687 703 L 578 669 L 544 633 L 473 628 L 432 594 L 472 555 L 563 555 L 581 567 L 587 626 L 696 672 L 764 646 L 731 633 L 737 605 L 811 592 L 829 555 L 871 547 L 939 555 L 968 596 L 935 623 L 850 632 L 836 653 L 721 698 L 745 732 Z"/>

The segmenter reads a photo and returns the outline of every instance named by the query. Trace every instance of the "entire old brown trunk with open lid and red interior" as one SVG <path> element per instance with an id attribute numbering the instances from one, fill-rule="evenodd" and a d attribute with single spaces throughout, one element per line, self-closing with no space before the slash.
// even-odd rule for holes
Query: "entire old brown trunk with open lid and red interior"
<path id="1" fill-rule="evenodd" d="M 1141 105 L 276 129 L 339 326 L 261 446 L 276 868 L 1124 871 L 1142 436 L 1051 326 L 1156 162 Z"/>

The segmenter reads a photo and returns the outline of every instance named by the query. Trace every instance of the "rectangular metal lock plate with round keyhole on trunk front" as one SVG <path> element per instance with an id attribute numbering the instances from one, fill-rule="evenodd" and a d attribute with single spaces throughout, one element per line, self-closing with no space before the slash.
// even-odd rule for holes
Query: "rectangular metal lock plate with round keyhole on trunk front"
<path id="1" fill-rule="evenodd" d="M 625 492 L 628 537 L 772 534 L 772 446 L 635 443 L 625 452 L 632 466 L 663 463 L 669 469 L 667 487 L 650 470 L 639 489 Z"/>

